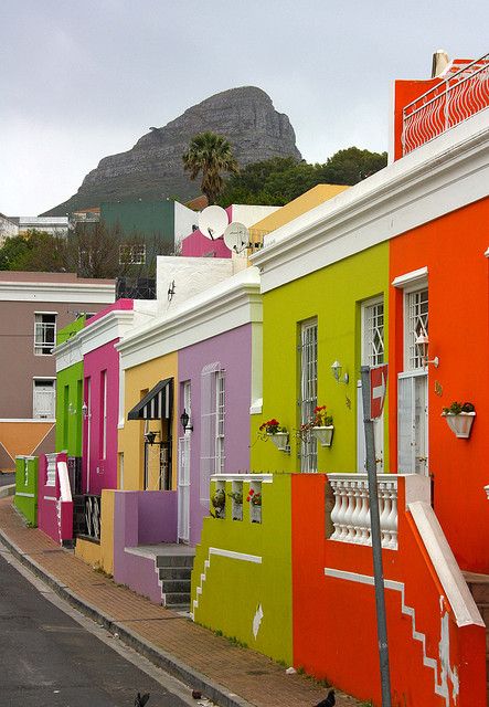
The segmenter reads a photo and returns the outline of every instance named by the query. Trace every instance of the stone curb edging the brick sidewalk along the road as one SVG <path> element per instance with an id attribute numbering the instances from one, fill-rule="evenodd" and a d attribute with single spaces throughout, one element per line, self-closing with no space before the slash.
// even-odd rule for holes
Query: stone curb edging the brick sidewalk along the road
<path id="1" fill-rule="evenodd" d="M 6 494 L 7 495 L 7 494 Z M 1 497 L 1 496 L 0 496 Z M 215 683 L 206 675 L 203 675 L 193 667 L 182 663 L 179 658 L 162 648 L 156 646 L 149 641 L 145 641 L 137 633 L 126 627 L 124 623 L 118 623 L 111 616 L 104 613 L 93 604 L 83 601 L 66 584 L 61 583 L 55 577 L 46 572 L 35 560 L 22 550 L 0 529 L 0 540 L 10 550 L 10 552 L 36 577 L 42 579 L 54 592 L 67 601 L 72 606 L 89 619 L 96 621 L 104 626 L 113 635 L 126 645 L 134 648 L 137 653 L 143 655 L 153 665 L 162 668 L 173 677 L 185 683 L 192 689 L 201 690 L 205 697 L 220 705 L 220 707 L 254 707 L 252 703 L 243 699 L 238 695 L 231 693 L 224 686 Z"/>

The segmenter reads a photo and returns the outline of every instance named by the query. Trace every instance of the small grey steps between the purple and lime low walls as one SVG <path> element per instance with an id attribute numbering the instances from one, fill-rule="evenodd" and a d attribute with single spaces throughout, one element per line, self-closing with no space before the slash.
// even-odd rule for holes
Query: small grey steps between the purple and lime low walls
<path id="1" fill-rule="evenodd" d="M 156 566 L 161 582 L 162 603 L 168 609 L 190 611 L 190 578 L 194 555 L 158 555 Z"/>

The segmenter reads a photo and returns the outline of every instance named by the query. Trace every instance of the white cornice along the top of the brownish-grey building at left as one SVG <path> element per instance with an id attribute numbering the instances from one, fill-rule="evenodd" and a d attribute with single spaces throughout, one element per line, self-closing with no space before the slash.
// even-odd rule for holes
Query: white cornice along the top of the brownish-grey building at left
<path id="1" fill-rule="evenodd" d="M 0 302 L 113 304 L 116 286 L 66 282 L 0 282 Z"/>

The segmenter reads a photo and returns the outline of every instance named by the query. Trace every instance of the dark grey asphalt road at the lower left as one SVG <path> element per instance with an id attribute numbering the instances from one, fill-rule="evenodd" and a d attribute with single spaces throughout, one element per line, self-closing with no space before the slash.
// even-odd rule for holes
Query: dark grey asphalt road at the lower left
<path id="1" fill-rule="evenodd" d="M 132 707 L 138 692 L 150 694 L 148 707 L 195 705 L 189 687 L 68 606 L 1 545 L 0 635 L 2 707 Z"/>

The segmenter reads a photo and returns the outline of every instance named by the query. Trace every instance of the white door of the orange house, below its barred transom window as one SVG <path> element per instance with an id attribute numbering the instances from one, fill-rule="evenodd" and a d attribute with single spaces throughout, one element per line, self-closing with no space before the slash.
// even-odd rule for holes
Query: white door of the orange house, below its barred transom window
<path id="1" fill-rule="evenodd" d="M 398 374 L 397 472 L 428 473 L 428 377 L 424 371 Z"/>

